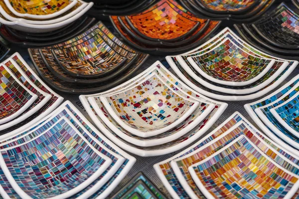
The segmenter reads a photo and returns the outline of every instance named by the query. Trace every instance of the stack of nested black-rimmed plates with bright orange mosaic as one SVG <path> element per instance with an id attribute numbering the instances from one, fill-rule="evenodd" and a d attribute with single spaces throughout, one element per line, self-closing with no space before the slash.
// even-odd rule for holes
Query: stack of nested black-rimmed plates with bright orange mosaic
<path id="1" fill-rule="evenodd" d="M 190 50 L 220 24 L 220 21 L 196 17 L 174 0 L 160 0 L 139 14 L 110 18 L 128 45 L 156 55 Z"/>

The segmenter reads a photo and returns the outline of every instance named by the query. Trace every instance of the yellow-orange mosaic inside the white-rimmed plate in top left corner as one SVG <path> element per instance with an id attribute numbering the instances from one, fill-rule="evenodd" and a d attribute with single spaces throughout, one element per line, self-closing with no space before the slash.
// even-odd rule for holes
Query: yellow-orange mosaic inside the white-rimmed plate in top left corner
<path id="1" fill-rule="evenodd" d="M 68 4 L 71 0 L 9 0 L 10 5 L 19 13 L 34 15 L 46 15 L 57 12 Z"/>

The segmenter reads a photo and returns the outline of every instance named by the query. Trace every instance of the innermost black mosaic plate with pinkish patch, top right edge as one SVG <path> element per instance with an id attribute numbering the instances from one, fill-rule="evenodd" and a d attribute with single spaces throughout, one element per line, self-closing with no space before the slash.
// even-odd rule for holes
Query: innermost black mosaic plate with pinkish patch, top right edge
<path id="1" fill-rule="evenodd" d="M 280 4 L 279 13 L 262 23 L 254 23 L 252 27 L 269 44 L 278 48 L 299 49 L 299 15 Z"/>

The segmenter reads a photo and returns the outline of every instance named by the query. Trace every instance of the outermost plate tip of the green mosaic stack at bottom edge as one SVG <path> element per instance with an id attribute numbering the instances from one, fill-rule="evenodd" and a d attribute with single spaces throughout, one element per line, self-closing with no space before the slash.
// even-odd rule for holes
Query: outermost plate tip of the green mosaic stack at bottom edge
<path id="1" fill-rule="evenodd" d="M 143 182 L 144 186 L 148 189 L 148 192 L 153 193 L 156 198 L 166 199 L 165 196 L 157 189 L 154 184 L 145 176 L 142 172 L 136 174 L 125 187 L 118 191 L 111 199 L 122 199 L 129 192 L 129 190 L 137 183 Z"/>

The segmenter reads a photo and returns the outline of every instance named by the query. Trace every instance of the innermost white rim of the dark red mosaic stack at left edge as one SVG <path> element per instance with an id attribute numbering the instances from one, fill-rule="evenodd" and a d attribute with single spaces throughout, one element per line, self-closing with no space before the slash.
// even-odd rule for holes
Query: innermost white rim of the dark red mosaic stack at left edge
<path id="1" fill-rule="evenodd" d="M 37 99 L 37 95 L 33 94 L 20 81 L 18 81 L 18 79 L 13 75 L 13 73 L 9 69 L 4 67 L 3 63 L 1 63 L 0 66 L 3 66 L 3 68 L 7 71 L 7 73 L 9 73 L 9 75 L 15 80 L 15 82 L 18 85 L 20 85 L 31 96 L 30 100 L 28 100 L 25 104 L 23 104 L 23 106 L 20 107 L 20 109 L 18 109 L 17 111 L 15 111 L 14 113 L 12 113 L 7 117 L 0 119 L 0 124 L 3 124 L 22 114 Z"/>

